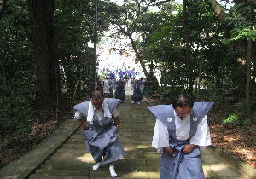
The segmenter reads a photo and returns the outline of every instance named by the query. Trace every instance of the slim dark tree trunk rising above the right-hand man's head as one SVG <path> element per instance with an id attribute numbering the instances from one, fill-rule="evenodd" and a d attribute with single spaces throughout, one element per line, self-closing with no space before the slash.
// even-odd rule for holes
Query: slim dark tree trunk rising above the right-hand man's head
<path id="1" fill-rule="evenodd" d="M 187 7 L 188 7 L 188 0 L 183 0 L 183 32 L 184 32 L 184 39 L 186 44 L 186 54 L 185 54 L 185 63 L 186 63 L 186 74 L 188 78 L 188 93 L 192 95 L 193 93 L 193 77 L 191 75 L 192 68 L 191 68 L 191 48 L 190 48 L 190 40 L 189 40 L 189 26 L 188 26 L 188 14 L 187 14 Z"/>

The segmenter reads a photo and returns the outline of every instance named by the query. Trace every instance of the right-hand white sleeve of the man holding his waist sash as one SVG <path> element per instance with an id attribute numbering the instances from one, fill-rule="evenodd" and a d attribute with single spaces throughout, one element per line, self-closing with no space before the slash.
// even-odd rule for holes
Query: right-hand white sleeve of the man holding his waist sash
<path id="1" fill-rule="evenodd" d="M 212 145 L 207 116 L 201 120 L 197 126 L 195 136 L 190 139 L 190 144 L 206 147 Z"/>

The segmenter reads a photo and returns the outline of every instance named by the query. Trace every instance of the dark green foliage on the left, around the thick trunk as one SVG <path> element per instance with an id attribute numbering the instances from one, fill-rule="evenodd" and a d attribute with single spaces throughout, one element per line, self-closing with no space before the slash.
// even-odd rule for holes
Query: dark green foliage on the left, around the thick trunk
<path id="1" fill-rule="evenodd" d="M 99 4 L 102 9 L 103 3 Z M 55 1 L 55 59 L 60 66 L 61 92 L 68 107 L 84 100 L 93 89 L 91 71 L 95 4 L 87 0 Z M 108 15 L 99 14 L 99 36 L 108 26 Z M 37 106 L 37 80 L 32 26 L 26 0 L 9 0 L 0 20 L 0 133 L 4 153 L 24 141 L 34 124 L 61 118 Z M 40 115 L 38 115 L 40 113 Z M 45 116 L 45 118 L 44 118 Z M 54 118 L 48 118 L 49 116 Z"/>

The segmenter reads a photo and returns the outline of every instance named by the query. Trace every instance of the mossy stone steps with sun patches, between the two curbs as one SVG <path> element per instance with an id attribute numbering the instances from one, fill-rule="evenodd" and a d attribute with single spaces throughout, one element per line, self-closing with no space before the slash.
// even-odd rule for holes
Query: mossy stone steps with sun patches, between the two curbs
<path id="1" fill-rule="evenodd" d="M 129 89 L 129 88 L 127 88 Z M 131 90 L 125 90 L 126 99 L 119 107 L 119 136 L 125 147 L 125 159 L 120 159 L 115 169 L 119 178 L 160 178 L 160 155 L 151 147 L 154 118 L 147 107 L 153 105 L 143 101 L 131 104 Z M 110 178 L 108 165 L 92 170 L 94 161 L 90 153 L 84 153 L 82 129 L 77 130 L 40 169 L 29 178 Z M 235 167 L 211 150 L 202 153 L 203 168 L 208 178 L 247 178 Z"/>

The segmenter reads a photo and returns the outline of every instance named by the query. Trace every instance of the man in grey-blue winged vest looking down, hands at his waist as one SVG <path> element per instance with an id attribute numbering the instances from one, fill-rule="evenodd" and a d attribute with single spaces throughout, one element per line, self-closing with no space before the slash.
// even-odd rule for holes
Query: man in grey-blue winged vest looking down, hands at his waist
<path id="1" fill-rule="evenodd" d="M 161 179 L 204 179 L 200 150 L 211 145 L 207 113 L 212 102 L 179 95 L 172 105 L 148 107 L 156 118 L 152 147 L 162 154 Z"/>

